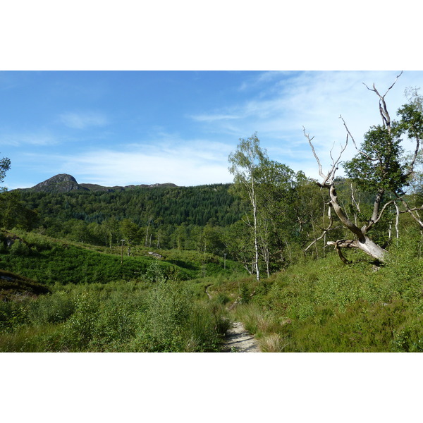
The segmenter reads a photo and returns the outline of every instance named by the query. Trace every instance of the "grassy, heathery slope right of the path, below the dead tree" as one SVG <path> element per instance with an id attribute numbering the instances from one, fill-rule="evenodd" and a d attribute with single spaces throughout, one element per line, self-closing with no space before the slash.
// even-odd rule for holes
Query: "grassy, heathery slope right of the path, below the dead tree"
<path id="1" fill-rule="evenodd" d="M 410 245 L 393 248 L 378 271 L 329 256 L 257 286 L 235 316 L 267 352 L 420 352 L 422 274 Z"/>

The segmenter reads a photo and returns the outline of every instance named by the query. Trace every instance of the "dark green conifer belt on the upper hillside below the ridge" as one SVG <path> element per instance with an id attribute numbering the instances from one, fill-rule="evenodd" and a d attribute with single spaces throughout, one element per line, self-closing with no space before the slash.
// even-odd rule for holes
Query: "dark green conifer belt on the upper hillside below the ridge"
<path id="1" fill-rule="evenodd" d="M 185 222 L 206 225 L 211 219 L 227 226 L 240 219 L 245 210 L 228 194 L 229 185 L 199 187 L 133 188 L 116 192 L 35 192 L 21 191 L 21 200 L 42 218 L 61 221 L 80 219 L 87 223 L 103 223 L 114 217 L 131 219 L 144 226 L 151 221 L 164 225 Z"/>

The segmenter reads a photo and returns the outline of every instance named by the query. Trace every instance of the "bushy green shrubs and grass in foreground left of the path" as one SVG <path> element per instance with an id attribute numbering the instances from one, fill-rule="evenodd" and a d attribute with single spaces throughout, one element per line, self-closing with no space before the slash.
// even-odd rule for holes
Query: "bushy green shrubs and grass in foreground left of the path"
<path id="1" fill-rule="evenodd" d="M 228 324 L 222 305 L 185 283 L 55 286 L 0 302 L 0 351 L 216 351 Z"/>

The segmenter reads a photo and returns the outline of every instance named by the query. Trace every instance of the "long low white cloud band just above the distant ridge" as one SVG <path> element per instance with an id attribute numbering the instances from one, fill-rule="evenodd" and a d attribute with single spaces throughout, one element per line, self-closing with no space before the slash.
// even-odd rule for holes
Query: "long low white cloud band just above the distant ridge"
<path id="1" fill-rule="evenodd" d="M 80 154 L 28 157 L 32 166 L 49 168 L 51 176 L 70 173 L 79 183 L 140 185 L 175 183 L 180 186 L 228 183 L 231 146 L 193 141 L 180 145 L 132 145 L 130 151 L 102 149 Z M 36 181 L 38 183 L 41 181 Z M 33 185 L 35 185 L 33 183 Z"/>

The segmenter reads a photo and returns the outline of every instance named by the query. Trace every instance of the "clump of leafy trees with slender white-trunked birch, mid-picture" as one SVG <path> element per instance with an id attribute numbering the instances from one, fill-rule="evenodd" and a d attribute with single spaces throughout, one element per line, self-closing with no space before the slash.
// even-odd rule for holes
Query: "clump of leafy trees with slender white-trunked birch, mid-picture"
<path id="1" fill-rule="evenodd" d="M 231 192 L 250 203 L 250 213 L 245 214 L 243 226 L 231 226 L 226 245 L 246 269 L 266 271 L 269 276 L 290 262 L 290 245 L 301 243 L 299 233 L 306 221 L 301 219 L 300 210 L 305 198 L 298 201 L 298 188 L 305 185 L 307 178 L 270 160 L 266 150 L 260 148 L 257 134 L 241 139 L 229 162 L 234 176 Z"/>

